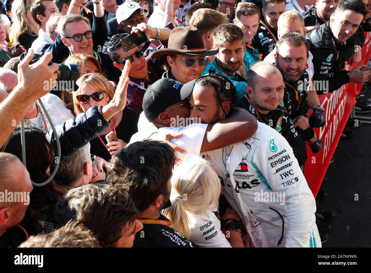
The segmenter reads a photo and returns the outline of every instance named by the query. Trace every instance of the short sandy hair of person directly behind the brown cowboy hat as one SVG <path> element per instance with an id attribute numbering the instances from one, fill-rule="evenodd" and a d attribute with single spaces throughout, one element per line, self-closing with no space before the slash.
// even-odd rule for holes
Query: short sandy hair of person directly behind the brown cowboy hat
<path id="1" fill-rule="evenodd" d="M 198 9 L 189 19 L 188 26 L 197 27 L 201 35 L 204 35 L 208 31 L 213 32 L 217 26 L 226 24 L 227 22 L 227 15 L 224 13 L 213 9 Z"/>

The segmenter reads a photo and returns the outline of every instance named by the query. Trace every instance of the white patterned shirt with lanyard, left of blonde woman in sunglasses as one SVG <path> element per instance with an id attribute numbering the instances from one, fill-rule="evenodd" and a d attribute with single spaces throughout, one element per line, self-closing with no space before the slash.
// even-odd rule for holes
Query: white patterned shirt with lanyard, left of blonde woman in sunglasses
<path id="1" fill-rule="evenodd" d="M 74 117 L 71 110 L 67 109 L 66 104 L 56 95 L 48 93 L 41 97 L 41 101 L 44 104 L 50 118 L 52 119 L 54 126 L 65 123 L 67 120 Z M 41 107 L 40 109 L 43 112 Z M 46 121 L 47 129 L 48 131 L 51 131 L 52 126 L 50 125 L 49 120 L 46 118 L 45 113 L 43 113 L 43 115 Z M 41 127 L 39 115 L 37 115 L 35 118 L 31 118 L 30 121 L 36 126 Z"/>

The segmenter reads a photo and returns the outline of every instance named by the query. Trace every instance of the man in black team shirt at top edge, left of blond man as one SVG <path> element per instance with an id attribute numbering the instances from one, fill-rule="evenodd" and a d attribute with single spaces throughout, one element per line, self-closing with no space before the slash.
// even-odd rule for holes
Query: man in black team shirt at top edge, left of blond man
<path id="1" fill-rule="evenodd" d="M 285 6 L 285 0 L 263 0 L 262 17 L 254 37 L 263 58 L 273 50 L 278 40 L 278 18 L 285 12 Z"/>

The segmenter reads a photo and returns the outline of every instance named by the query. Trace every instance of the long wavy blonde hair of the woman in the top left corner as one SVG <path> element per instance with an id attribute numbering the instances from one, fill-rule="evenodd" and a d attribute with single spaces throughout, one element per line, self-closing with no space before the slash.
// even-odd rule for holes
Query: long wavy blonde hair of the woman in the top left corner
<path id="1" fill-rule="evenodd" d="M 24 3 L 26 2 L 26 6 Z M 32 25 L 27 16 L 27 10 L 31 7 L 31 0 L 14 0 L 12 4 L 13 25 L 10 27 L 9 36 L 12 37 L 12 45 L 16 45 L 18 37 L 27 33 L 33 36 Z"/>

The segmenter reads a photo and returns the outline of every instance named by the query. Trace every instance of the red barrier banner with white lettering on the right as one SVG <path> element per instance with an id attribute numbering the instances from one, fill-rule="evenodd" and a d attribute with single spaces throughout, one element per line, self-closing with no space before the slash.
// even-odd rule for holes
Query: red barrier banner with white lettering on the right
<path id="1" fill-rule="evenodd" d="M 365 32 L 365 43 L 362 47 L 362 60 L 354 67 L 363 64 L 368 65 L 370 55 L 371 32 Z M 352 68 L 346 65 L 345 69 L 351 70 Z M 353 105 L 356 103 L 356 92 L 358 94 L 361 88 L 362 84 L 350 82 L 332 93 L 319 95 L 319 101 L 325 108 L 325 118 L 327 122 L 322 128 L 314 128 L 314 131 L 317 138 L 324 142 L 324 146 L 317 154 L 313 154 L 308 144 L 306 145 L 308 159 L 305 162 L 304 169 L 304 176 L 314 196 L 317 195 L 330 160 L 340 140 L 341 133 L 352 112 Z M 311 114 L 312 110 L 309 111 L 308 116 Z"/>

